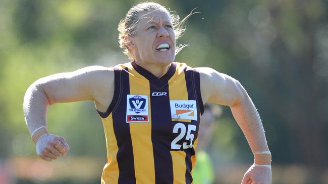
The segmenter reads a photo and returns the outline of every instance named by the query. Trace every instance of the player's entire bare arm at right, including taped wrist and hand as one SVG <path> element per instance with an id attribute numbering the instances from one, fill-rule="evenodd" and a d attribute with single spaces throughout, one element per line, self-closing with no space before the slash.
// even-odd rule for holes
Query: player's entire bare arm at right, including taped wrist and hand
<path id="1" fill-rule="evenodd" d="M 257 110 L 239 81 L 211 68 L 198 68 L 204 102 L 227 105 L 254 153 L 254 164 L 246 171 L 242 184 L 271 183 L 271 155 Z M 264 153 L 263 153 L 264 152 Z"/>

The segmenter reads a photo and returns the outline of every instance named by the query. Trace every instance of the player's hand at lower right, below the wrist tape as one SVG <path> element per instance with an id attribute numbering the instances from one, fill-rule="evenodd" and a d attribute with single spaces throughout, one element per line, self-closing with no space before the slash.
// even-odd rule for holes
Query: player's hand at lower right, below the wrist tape
<path id="1" fill-rule="evenodd" d="M 251 165 L 241 184 L 271 184 L 271 168 Z"/>

